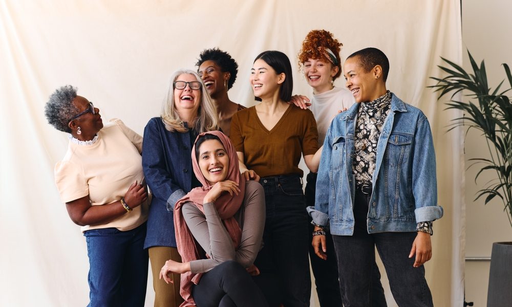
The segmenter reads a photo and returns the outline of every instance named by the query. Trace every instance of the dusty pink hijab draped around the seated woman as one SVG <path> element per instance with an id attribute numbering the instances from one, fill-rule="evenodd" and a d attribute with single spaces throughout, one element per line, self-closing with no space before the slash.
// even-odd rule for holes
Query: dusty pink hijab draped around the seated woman
<path id="1" fill-rule="evenodd" d="M 240 206 L 244 201 L 245 194 L 245 177 L 241 176 L 240 174 L 237 151 L 234 149 L 233 144 L 229 138 L 222 132 L 208 131 L 202 133 L 196 138 L 191 155 L 194 173 L 203 186 L 192 189 L 188 194 L 183 196 L 183 198 L 180 199 L 174 207 L 174 229 L 176 231 L 176 243 L 178 245 L 178 252 L 180 253 L 183 262 L 201 259 L 198 248 L 194 241 L 194 237 L 188 229 L 187 224 L 185 223 L 185 218 L 183 217 L 182 213 L 182 206 L 187 202 L 191 202 L 204 213 L 203 199 L 212 186 L 204 178 L 203 173 L 199 169 L 199 165 L 196 159 L 196 143 L 201 136 L 206 134 L 217 136 L 224 146 L 224 149 L 226 149 L 226 153 L 229 157 L 229 168 L 225 180 L 232 180 L 239 183 L 238 188 L 240 189 L 240 193 L 238 193 L 238 195 L 223 193 L 217 199 L 217 201 L 215 201 L 215 207 L 217 208 L 217 211 L 222 218 L 222 222 L 224 223 L 224 226 L 226 227 L 226 230 L 228 231 L 229 236 L 233 241 L 233 246 L 235 249 L 238 248 L 242 239 L 242 230 L 240 229 L 237 220 L 233 217 L 233 215 L 240 209 Z M 192 283 L 194 282 L 197 284 L 201 278 L 201 275 L 202 274 L 195 274 L 192 272 L 181 274 L 180 294 L 185 299 L 185 301 L 181 304 L 181 307 L 196 305 L 191 295 Z"/>

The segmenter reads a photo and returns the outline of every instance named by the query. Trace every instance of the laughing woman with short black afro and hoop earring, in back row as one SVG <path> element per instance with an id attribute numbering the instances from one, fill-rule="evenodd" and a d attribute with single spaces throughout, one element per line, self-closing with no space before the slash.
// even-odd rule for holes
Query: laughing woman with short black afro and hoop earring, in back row
<path id="1" fill-rule="evenodd" d="M 196 66 L 208 94 L 217 107 L 219 127 L 229 136 L 233 114 L 245 108 L 232 102 L 227 95 L 227 91 L 233 87 L 234 80 L 237 79 L 238 64 L 229 53 L 212 48 L 201 52 Z"/>

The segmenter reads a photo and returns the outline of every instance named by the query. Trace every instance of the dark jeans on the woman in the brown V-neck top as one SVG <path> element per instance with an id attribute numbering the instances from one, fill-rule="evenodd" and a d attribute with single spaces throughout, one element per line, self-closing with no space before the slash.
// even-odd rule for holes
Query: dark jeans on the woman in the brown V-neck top
<path id="1" fill-rule="evenodd" d="M 301 178 L 296 175 L 267 177 L 260 183 L 265 190 L 266 220 L 264 246 L 255 265 L 262 274 L 276 276 L 286 307 L 309 306 L 310 242 Z"/>

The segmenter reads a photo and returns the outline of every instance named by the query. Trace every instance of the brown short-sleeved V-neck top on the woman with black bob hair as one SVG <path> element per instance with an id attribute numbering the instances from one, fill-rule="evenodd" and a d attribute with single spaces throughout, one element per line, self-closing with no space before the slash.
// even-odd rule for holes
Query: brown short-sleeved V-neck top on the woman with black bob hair
<path id="1" fill-rule="evenodd" d="M 291 104 L 269 131 L 261 123 L 256 108 L 238 111 L 231 120 L 229 135 L 237 151 L 244 153 L 245 165 L 260 177 L 297 174 L 301 155 L 318 150 L 318 131 L 313 113 Z"/>

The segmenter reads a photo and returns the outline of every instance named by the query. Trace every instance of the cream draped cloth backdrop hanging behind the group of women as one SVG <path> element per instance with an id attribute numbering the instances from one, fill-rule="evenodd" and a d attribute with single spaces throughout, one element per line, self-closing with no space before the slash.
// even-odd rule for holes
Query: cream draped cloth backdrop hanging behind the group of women
<path id="1" fill-rule="evenodd" d="M 0 0 L 0 305 L 88 302 L 86 242 L 53 179 L 67 135 L 43 114 L 57 87 L 77 86 L 104 119 L 121 118 L 142 134 L 159 115 L 170 74 L 194 68 L 204 48 L 219 47 L 238 61 L 229 92 L 235 102 L 254 104 L 249 71 L 269 49 L 290 57 L 294 93 L 310 95 L 296 55 L 309 30 L 327 29 L 344 43 L 342 58 L 365 47 L 384 51 L 391 62 L 388 89 L 429 118 L 445 215 L 434 223 L 426 275 L 436 305 L 461 306 L 462 134 L 445 133 L 457 114 L 443 111 L 425 87 L 433 84 L 430 76 L 441 75 L 440 56 L 462 62 L 460 19 L 459 0 Z M 335 84 L 344 86 L 343 77 Z M 152 302 L 150 275 L 146 305 Z"/>

